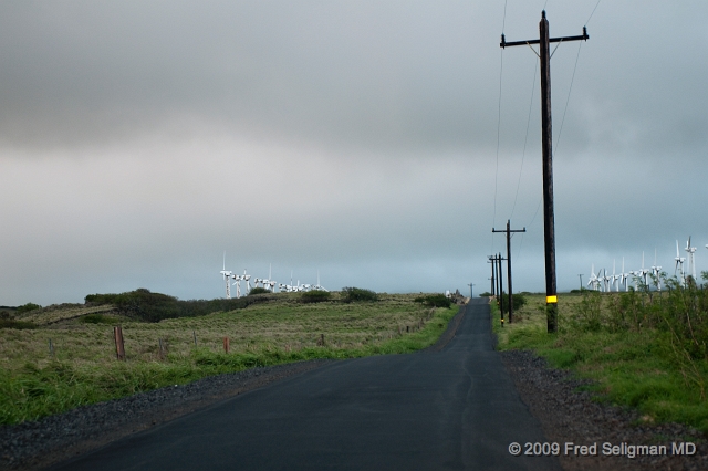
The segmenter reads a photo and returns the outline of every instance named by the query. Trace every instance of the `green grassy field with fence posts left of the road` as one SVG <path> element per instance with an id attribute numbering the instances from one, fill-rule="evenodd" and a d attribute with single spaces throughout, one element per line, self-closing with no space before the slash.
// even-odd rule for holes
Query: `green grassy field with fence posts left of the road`
<path id="1" fill-rule="evenodd" d="M 347 304 L 335 296 L 302 304 L 299 295 L 283 294 L 238 311 L 158 323 L 92 313 L 34 329 L 0 329 L 0 423 L 250 367 L 425 348 L 458 308 L 424 307 L 415 297 L 383 294 L 378 302 Z M 115 359 L 117 324 L 126 362 Z"/>

